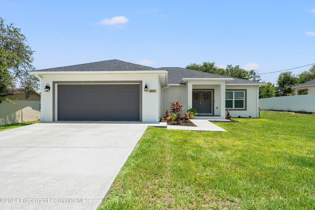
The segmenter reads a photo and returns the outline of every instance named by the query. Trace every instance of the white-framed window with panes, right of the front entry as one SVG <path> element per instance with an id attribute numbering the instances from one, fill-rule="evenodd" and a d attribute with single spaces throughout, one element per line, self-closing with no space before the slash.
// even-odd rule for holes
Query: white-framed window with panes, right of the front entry
<path id="1" fill-rule="evenodd" d="M 225 108 L 226 109 L 246 109 L 245 107 L 246 91 L 228 90 L 225 92 Z"/>

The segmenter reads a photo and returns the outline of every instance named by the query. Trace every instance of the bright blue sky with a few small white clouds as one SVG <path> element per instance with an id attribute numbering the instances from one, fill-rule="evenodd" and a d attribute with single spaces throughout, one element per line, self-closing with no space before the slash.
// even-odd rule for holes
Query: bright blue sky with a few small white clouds
<path id="1" fill-rule="evenodd" d="M 27 37 L 36 69 L 206 61 L 276 84 L 281 72 L 263 73 L 315 63 L 314 0 L 0 0 L 0 17 Z"/>

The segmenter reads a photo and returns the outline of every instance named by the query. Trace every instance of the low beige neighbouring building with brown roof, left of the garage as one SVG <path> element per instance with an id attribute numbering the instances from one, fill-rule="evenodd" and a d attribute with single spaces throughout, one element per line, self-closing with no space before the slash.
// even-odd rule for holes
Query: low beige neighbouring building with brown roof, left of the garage
<path id="1" fill-rule="evenodd" d="M 1 94 L 10 102 L 0 103 L 0 125 L 35 121 L 40 118 L 40 94 L 32 91 L 27 96 L 22 89 L 10 89 Z"/>

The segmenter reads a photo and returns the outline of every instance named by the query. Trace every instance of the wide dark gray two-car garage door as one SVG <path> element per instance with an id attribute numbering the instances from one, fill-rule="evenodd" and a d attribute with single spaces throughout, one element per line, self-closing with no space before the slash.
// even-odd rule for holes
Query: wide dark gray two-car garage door
<path id="1" fill-rule="evenodd" d="M 139 85 L 58 85 L 58 120 L 139 121 Z"/>

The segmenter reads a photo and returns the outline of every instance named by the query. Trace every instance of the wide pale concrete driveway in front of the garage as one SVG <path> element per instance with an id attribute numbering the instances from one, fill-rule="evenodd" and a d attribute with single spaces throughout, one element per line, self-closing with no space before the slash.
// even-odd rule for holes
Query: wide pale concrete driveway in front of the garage
<path id="1" fill-rule="evenodd" d="M 96 209 L 146 128 L 37 123 L 0 132 L 0 209 Z"/>

